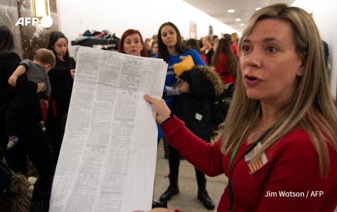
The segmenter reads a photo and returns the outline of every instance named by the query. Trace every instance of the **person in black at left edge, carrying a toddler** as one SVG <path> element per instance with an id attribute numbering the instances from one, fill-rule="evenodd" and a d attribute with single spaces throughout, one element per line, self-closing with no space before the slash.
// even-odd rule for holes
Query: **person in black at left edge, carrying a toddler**
<path id="1" fill-rule="evenodd" d="M 44 83 L 28 81 L 25 74 L 18 77 L 17 85 L 8 84 L 15 69 L 20 64 L 20 57 L 13 53 L 14 39 L 12 32 L 6 26 L 0 26 L 0 144 L 5 149 L 8 143 L 6 135 L 5 113 L 15 95 L 25 95 L 29 98 L 37 98 L 37 92 L 42 91 Z M 37 120 L 36 110 L 26 107 L 20 110 L 15 119 L 16 131 L 20 143 L 11 150 L 4 150 L 6 163 L 15 173 L 27 176 L 27 155 L 39 173 L 39 188 L 44 201 L 44 211 L 48 211 L 51 196 L 51 185 L 55 166 L 51 157 L 51 151 L 44 131 Z M 2 159 L 2 158 L 1 158 Z M 1 191 L 2 192 L 2 191 Z"/>

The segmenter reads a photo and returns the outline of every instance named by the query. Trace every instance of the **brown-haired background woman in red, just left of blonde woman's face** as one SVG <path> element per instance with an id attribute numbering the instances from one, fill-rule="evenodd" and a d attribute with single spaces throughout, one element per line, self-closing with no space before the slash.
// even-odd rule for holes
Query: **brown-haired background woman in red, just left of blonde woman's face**
<path id="1" fill-rule="evenodd" d="M 237 57 L 232 51 L 230 41 L 220 39 L 216 52 L 213 54 L 211 65 L 216 68 L 216 72 L 221 75 L 223 84 L 232 83 L 235 85 L 237 73 Z"/>

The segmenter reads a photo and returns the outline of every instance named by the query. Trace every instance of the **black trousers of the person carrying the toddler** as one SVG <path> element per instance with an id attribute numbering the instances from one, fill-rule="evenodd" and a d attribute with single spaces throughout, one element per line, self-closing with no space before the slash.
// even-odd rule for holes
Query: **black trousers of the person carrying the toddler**
<path id="1" fill-rule="evenodd" d="M 32 109 L 32 108 L 30 108 Z M 8 136 L 6 135 L 4 117 L 0 121 L 1 148 L 6 149 Z M 34 110 L 23 110 L 15 119 L 16 131 L 20 142 L 11 150 L 4 150 L 6 162 L 13 171 L 27 175 L 27 155 L 39 173 L 39 187 L 50 190 L 51 180 L 55 173 L 55 166 L 51 157 L 51 150 L 44 131 L 39 126 L 37 114 Z"/>

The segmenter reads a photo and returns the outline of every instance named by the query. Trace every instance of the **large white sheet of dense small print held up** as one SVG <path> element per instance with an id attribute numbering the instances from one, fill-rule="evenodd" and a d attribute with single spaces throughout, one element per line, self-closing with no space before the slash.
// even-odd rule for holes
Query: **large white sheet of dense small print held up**
<path id="1" fill-rule="evenodd" d="M 167 64 L 80 47 L 50 211 L 149 211 Z"/>

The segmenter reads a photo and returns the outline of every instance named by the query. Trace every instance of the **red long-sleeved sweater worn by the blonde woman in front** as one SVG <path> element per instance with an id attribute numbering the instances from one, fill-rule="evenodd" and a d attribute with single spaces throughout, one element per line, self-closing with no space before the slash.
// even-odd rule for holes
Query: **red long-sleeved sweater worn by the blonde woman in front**
<path id="1" fill-rule="evenodd" d="M 169 143 L 200 171 L 209 176 L 223 173 L 228 176 L 232 152 L 222 154 L 220 140 L 213 145 L 205 143 L 176 117 L 161 128 Z M 232 166 L 251 146 L 244 143 L 243 138 Z M 318 155 L 308 133 L 300 129 L 270 147 L 265 152 L 267 163 L 255 173 L 249 173 L 244 157 L 240 159 L 232 173 L 233 211 L 333 211 L 337 206 L 337 153 L 328 146 L 330 168 L 327 180 L 319 175 Z M 280 197 L 282 192 L 290 196 L 304 194 L 304 197 Z M 267 194 L 272 197 L 265 197 Z M 229 210 L 226 187 L 218 211 Z"/>

